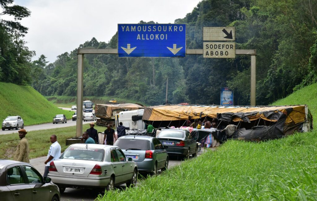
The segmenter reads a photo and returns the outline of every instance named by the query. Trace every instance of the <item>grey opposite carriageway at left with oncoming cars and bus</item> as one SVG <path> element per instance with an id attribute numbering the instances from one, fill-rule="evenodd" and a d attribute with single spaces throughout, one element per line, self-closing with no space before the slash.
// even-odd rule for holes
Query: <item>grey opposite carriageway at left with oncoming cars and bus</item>
<path id="1" fill-rule="evenodd" d="M 65 110 L 72 111 L 70 108 L 61 108 Z M 73 110 L 75 112 L 75 110 Z M 93 110 L 94 112 L 94 110 Z M 96 122 L 96 121 L 83 121 L 83 124 L 89 124 L 91 122 Z M 24 129 L 26 131 L 38 131 L 38 130 L 45 130 L 45 129 L 52 129 L 52 128 L 63 128 L 63 127 L 69 127 L 69 126 L 76 126 L 76 121 L 67 120 L 67 123 L 57 123 L 53 124 L 52 123 L 46 123 L 46 124 L 38 124 L 38 125 L 33 125 L 33 126 L 24 126 Z M 0 135 L 4 134 L 11 134 L 11 133 L 17 133 L 17 130 L 0 130 Z"/>

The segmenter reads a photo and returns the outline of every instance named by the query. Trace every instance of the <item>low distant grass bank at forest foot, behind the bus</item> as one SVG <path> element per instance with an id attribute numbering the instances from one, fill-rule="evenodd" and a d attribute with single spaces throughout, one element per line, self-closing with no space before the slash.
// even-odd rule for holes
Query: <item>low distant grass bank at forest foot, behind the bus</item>
<path id="1" fill-rule="evenodd" d="M 70 108 L 72 105 L 76 105 L 76 97 L 73 96 L 45 96 L 51 103 L 53 103 L 57 107 L 68 107 Z M 97 97 L 97 96 L 85 96 L 83 100 L 90 100 L 94 104 L 105 104 L 110 99 L 117 100 L 118 103 L 139 103 L 144 105 L 145 103 L 141 103 L 135 100 L 123 99 L 123 98 L 115 98 L 115 97 Z"/>

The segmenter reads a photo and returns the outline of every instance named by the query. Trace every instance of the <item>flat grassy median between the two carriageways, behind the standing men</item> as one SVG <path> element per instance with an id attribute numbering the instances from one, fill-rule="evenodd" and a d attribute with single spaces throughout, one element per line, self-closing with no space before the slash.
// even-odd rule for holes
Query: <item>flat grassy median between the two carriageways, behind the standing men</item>
<path id="1" fill-rule="evenodd" d="M 89 128 L 89 124 L 83 125 L 83 130 Z M 104 132 L 106 127 L 95 126 L 98 131 Z M 51 142 L 49 138 L 51 135 L 57 135 L 57 141 L 61 145 L 61 151 L 64 151 L 66 146 L 66 139 L 76 136 L 76 127 L 55 128 L 40 131 L 30 131 L 26 134 L 26 139 L 29 141 L 30 154 L 29 158 L 36 158 L 41 156 L 47 156 L 47 152 Z M 0 156 L 2 159 L 13 159 L 12 154 L 16 149 L 16 145 L 19 143 L 20 138 L 16 131 L 13 134 L 0 135 Z"/>

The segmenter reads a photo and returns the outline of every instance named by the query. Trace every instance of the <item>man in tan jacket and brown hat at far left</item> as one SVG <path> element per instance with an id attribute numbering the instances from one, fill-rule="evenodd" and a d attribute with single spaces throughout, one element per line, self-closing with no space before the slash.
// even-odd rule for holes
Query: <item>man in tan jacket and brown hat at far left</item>
<path id="1" fill-rule="evenodd" d="M 26 132 L 26 130 L 22 128 L 18 131 L 18 133 L 19 133 L 19 137 L 20 137 L 20 142 L 19 142 L 18 146 L 16 147 L 16 151 L 13 154 L 13 159 L 15 161 L 30 163 L 30 160 L 29 160 L 29 142 L 25 138 L 25 135 L 28 132 Z"/>

